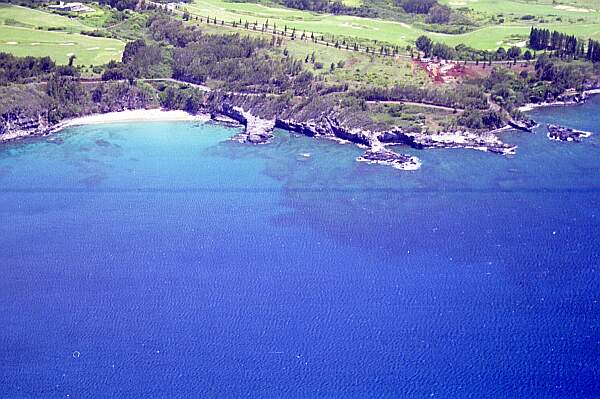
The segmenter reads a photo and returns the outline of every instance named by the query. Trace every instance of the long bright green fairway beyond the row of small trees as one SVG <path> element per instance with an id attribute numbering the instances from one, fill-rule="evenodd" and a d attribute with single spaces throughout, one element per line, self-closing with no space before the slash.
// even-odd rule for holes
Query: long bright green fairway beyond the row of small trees
<path id="1" fill-rule="evenodd" d="M 446 1 L 449 2 L 451 0 Z M 478 4 L 479 1 L 483 2 L 483 6 L 487 4 L 487 8 L 490 10 L 494 9 L 494 7 L 497 9 L 505 7 L 502 5 L 502 1 L 497 0 L 470 0 L 468 4 Z M 587 0 L 582 1 L 585 2 Z M 507 3 L 510 2 L 510 0 L 507 1 Z M 554 9 L 554 6 L 549 5 L 543 5 L 543 7 L 544 9 Z M 258 21 L 258 23 L 264 23 L 266 20 L 269 20 L 271 25 L 275 23 L 279 28 L 283 28 L 284 25 L 287 25 L 288 28 L 294 27 L 300 31 L 334 35 L 336 37 L 347 37 L 361 42 L 377 40 L 380 42 L 406 46 L 408 44 L 413 44 L 418 36 L 427 34 L 436 41 L 445 42 L 450 45 L 464 43 L 484 50 L 493 50 L 502 45 L 523 45 L 532 24 L 532 22 L 527 24 L 525 21 L 518 24 L 496 24 L 493 26 L 482 27 L 465 34 L 447 35 L 425 32 L 422 29 L 401 22 L 382 21 L 346 15 L 316 14 L 253 3 L 230 3 L 223 0 L 195 0 L 192 4 L 186 6 L 186 8 L 191 14 L 203 17 L 210 16 L 227 21 L 242 19 L 242 21 L 248 20 L 249 22 Z M 528 9 L 528 7 L 525 7 L 522 11 L 525 12 Z M 570 12 L 567 11 L 556 11 L 557 13 L 567 13 L 570 15 Z M 540 13 L 542 13 L 542 11 L 540 11 Z M 560 30 L 581 37 L 600 39 L 600 20 L 595 17 L 598 13 L 594 11 L 588 12 L 587 14 L 592 14 L 592 16 L 587 16 L 587 19 L 585 19 L 584 22 L 578 24 L 558 23 L 554 21 L 553 23 L 546 24 L 535 22 L 535 25 L 538 27 L 545 26 L 550 29 Z"/>

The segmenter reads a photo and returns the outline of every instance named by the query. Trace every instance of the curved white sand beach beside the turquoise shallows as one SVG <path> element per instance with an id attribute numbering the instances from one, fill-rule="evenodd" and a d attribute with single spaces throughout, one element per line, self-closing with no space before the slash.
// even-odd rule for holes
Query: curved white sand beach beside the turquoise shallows
<path id="1" fill-rule="evenodd" d="M 162 109 L 136 109 L 121 112 L 108 112 L 106 114 L 94 114 L 80 118 L 67 119 L 56 125 L 52 132 L 62 130 L 70 126 L 96 125 L 103 123 L 118 122 L 158 122 L 158 121 L 201 121 L 207 122 L 210 115 L 192 115 L 185 111 L 165 111 Z"/>

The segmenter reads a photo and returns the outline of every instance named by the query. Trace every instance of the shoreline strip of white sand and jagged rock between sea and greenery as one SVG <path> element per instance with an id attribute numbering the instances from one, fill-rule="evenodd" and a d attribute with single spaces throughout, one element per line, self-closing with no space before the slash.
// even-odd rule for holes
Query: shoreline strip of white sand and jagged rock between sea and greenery
<path id="1" fill-rule="evenodd" d="M 585 96 L 600 94 L 600 88 L 584 92 Z M 521 110 L 551 105 L 571 105 L 584 102 L 563 101 L 542 104 L 527 104 Z M 254 115 L 251 111 L 235 106 L 229 101 L 224 101 L 221 106 L 204 109 L 199 114 L 190 114 L 183 110 L 168 110 L 163 108 L 140 108 L 106 113 L 95 113 L 81 117 L 65 119 L 57 124 L 48 123 L 47 116 L 38 114 L 29 119 L 16 119 L 8 125 L 7 132 L 0 135 L 0 142 L 11 141 L 29 136 L 46 136 L 73 126 L 129 123 L 129 122 L 160 122 L 160 121 L 196 121 L 232 124 L 243 126 L 243 131 L 232 137 L 232 140 L 241 143 L 266 144 L 273 138 L 273 130 L 280 128 L 289 132 L 300 133 L 310 137 L 324 137 L 340 142 L 351 142 L 366 152 L 356 160 L 360 162 L 377 163 L 392 166 L 401 170 L 416 170 L 421 166 L 421 161 L 406 154 L 398 154 L 387 149 L 387 146 L 409 146 L 417 149 L 424 148 L 469 148 L 479 151 L 489 151 L 501 155 L 514 155 L 516 146 L 509 145 L 500 140 L 498 134 L 508 129 L 516 128 L 531 131 L 530 126 L 517 122 L 494 129 L 486 133 L 473 133 L 469 131 L 410 133 L 400 128 L 387 131 L 369 131 L 360 128 L 347 128 L 342 126 L 335 117 L 325 116 L 318 121 L 299 122 L 293 119 L 280 119 L 278 117 L 265 119 Z M 12 128 L 12 129 L 11 129 Z M 11 131 L 12 130 L 12 131 Z"/>

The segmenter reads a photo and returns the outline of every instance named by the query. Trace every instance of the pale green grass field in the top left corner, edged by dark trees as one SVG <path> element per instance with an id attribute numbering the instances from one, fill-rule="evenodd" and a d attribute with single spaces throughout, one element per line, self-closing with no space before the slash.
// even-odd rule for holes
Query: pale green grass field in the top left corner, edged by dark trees
<path id="1" fill-rule="evenodd" d="M 61 28 L 60 31 L 47 29 Z M 19 6 L 0 6 L 0 51 L 17 56 L 50 56 L 65 64 L 100 65 L 121 58 L 125 44 L 116 39 L 81 35 L 91 30 L 78 19 Z"/>

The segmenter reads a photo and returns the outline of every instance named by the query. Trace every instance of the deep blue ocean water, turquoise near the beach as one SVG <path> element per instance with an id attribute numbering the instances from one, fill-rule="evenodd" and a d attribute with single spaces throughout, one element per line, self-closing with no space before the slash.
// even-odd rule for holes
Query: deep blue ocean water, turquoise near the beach
<path id="1" fill-rule="evenodd" d="M 600 397 L 600 97 L 532 116 L 595 134 L 416 172 L 183 122 L 3 144 L 0 397 Z"/>

